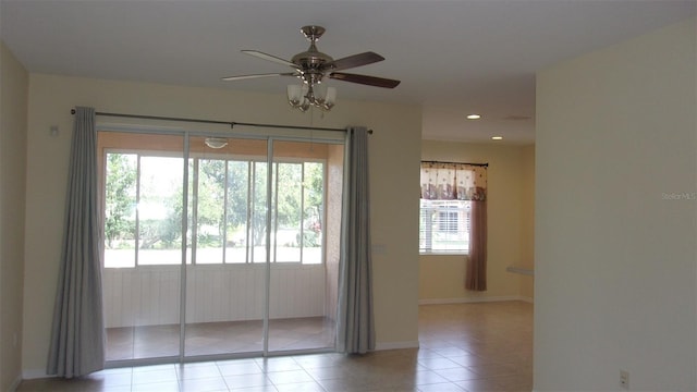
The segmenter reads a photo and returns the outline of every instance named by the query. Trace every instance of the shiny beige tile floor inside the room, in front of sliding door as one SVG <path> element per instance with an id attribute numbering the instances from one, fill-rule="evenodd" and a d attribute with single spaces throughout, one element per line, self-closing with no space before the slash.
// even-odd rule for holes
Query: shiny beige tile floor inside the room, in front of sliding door
<path id="1" fill-rule="evenodd" d="M 533 305 L 424 305 L 420 348 L 108 369 L 17 391 L 530 391 Z"/>

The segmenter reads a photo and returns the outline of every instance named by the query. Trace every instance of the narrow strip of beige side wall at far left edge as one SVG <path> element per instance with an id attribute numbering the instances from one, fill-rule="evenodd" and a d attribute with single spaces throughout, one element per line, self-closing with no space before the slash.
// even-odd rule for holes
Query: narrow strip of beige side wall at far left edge
<path id="1" fill-rule="evenodd" d="M 22 375 L 27 95 L 27 72 L 0 41 L 0 391 Z"/>

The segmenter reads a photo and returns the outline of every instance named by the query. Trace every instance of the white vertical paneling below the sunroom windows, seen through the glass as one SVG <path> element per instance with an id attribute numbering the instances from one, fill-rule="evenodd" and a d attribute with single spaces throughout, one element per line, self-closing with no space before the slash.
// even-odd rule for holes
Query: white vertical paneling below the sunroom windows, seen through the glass
<path id="1" fill-rule="evenodd" d="M 179 323 L 179 266 L 103 271 L 107 327 Z M 325 266 L 271 267 L 270 318 L 325 314 Z M 266 266 L 187 266 L 186 322 L 258 320 Z"/>

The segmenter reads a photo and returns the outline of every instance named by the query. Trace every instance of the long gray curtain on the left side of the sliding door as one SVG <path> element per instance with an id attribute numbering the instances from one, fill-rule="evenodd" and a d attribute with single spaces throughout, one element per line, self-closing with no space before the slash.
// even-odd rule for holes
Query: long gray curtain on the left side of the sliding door
<path id="1" fill-rule="evenodd" d="M 105 367 L 101 231 L 97 205 L 95 110 L 76 108 L 63 249 L 53 310 L 49 375 L 72 378 Z"/>

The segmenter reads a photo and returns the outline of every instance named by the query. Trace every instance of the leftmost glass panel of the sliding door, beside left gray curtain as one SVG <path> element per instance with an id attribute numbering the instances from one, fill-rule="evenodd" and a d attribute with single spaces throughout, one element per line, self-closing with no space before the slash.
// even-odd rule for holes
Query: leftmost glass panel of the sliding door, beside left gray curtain
<path id="1" fill-rule="evenodd" d="M 183 142 L 99 135 L 107 360 L 179 356 Z"/>

